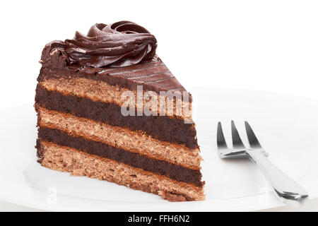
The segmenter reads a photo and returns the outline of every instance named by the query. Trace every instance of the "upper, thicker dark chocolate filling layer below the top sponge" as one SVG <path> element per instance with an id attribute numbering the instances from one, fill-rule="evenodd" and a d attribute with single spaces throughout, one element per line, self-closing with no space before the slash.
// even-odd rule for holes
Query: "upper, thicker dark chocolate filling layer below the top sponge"
<path id="1" fill-rule="evenodd" d="M 126 116 L 121 107 L 114 103 L 94 102 L 86 97 L 63 95 L 37 85 L 35 102 L 50 110 L 73 114 L 76 117 L 101 121 L 112 126 L 121 126 L 133 131 L 145 131 L 161 141 L 181 143 L 189 148 L 197 148 L 194 124 L 184 124 L 183 119 L 167 116 Z"/>

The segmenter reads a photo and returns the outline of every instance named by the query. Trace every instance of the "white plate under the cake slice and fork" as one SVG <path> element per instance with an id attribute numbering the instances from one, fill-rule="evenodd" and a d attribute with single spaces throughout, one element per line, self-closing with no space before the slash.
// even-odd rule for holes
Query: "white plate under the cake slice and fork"
<path id="1" fill-rule="evenodd" d="M 220 160 L 216 124 L 230 142 L 230 120 L 246 140 L 252 125 L 270 160 L 318 197 L 318 102 L 272 93 L 192 88 L 206 201 L 170 203 L 110 182 L 69 177 L 36 162 L 33 104 L 0 113 L 0 199 L 44 210 L 213 211 L 282 206 L 249 160 Z"/>

